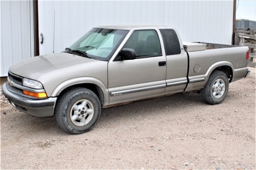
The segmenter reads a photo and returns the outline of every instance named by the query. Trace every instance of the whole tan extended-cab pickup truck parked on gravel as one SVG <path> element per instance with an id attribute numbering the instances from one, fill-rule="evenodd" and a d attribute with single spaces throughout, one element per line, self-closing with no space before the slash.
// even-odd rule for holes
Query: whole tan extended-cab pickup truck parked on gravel
<path id="1" fill-rule="evenodd" d="M 164 25 L 104 25 L 88 31 L 61 53 L 14 63 L 3 94 L 18 110 L 54 116 L 71 134 L 91 130 L 101 108 L 200 90 L 221 103 L 229 83 L 246 77 L 249 48 L 182 43 Z"/>

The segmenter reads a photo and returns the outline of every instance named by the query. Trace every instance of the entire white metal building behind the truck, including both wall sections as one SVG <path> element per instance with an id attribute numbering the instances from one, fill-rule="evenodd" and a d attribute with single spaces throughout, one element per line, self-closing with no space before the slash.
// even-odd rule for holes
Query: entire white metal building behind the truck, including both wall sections
<path id="1" fill-rule="evenodd" d="M 183 41 L 231 44 L 234 3 L 236 0 L 0 1 L 0 76 L 7 76 L 15 62 L 64 50 L 97 25 L 171 25 Z"/>

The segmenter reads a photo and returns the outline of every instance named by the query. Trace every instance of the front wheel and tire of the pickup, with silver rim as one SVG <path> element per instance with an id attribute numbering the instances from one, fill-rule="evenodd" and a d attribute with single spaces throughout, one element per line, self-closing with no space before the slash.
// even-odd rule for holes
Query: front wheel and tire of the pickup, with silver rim
<path id="1" fill-rule="evenodd" d="M 56 103 L 54 117 L 59 126 L 70 134 L 88 132 L 98 122 L 101 102 L 87 88 L 71 88 Z"/>

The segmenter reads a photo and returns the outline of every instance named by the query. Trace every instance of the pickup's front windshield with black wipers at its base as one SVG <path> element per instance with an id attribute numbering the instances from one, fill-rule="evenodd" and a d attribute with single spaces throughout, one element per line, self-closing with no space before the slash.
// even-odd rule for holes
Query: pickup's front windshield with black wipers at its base
<path id="1" fill-rule="evenodd" d="M 63 52 L 108 61 L 127 33 L 126 30 L 93 28 Z"/>

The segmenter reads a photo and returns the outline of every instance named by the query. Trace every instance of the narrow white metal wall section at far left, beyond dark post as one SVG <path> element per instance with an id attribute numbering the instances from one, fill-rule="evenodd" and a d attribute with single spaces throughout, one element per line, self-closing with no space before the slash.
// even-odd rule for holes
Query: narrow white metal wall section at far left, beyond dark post
<path id="1" fill-rule="evenodd" d="M 15 62 L 31 57 L 30 1 L 0 1 L 0 76 Z"/>

